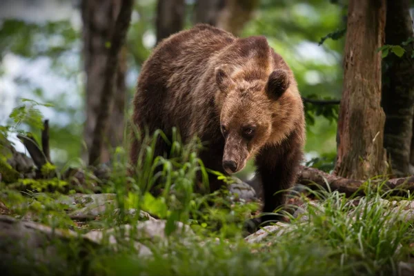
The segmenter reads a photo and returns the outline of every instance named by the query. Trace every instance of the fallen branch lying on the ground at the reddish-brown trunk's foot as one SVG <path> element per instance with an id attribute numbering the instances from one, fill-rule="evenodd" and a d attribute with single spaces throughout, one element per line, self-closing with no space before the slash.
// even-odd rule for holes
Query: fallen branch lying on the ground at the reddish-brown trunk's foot
<path id="1" fill-rule="evenodd" d="M 337 177 L 335 175 L 330 175 L 322 170 L 317 168 L 302 167 L 302 170 L 299 172 L 299 178 L 297 181 L 299 184 L 305 186 L 312 186 L 313 182 L 327 189 L 329 187 L 331 190 L 337 190 L 339 193 L 345 193 L 346 196 L 355 195 L 366 195 L 365 185 L 366 181 L 357 180 L 357 179 L 346 179 L 344 177 Z M 406 194 L 408 191 L 413 193 L 414 191 L 414 176 L 406 178 L 395 178 L 385 181 L 381 180 L 372 180 L 371 184 L 376 186 L 382 185 L 383 191 L 396 190 L 395 192 L 400 192 Z M 371 187 L 372 188 L 372 187 Z"/>

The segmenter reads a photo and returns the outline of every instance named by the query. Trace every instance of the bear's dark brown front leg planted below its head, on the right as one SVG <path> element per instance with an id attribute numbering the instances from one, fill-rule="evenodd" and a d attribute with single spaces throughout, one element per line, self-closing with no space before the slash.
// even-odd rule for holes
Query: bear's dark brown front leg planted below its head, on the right
<path id="1" fill-rule="evenodd" d="M 301 158 L 300 149 L 284 145 L 266 146 L 256 157 L 257 173 L 262 179 L 263 213 L 273 213 L 286 204 L 286 192 L 280 191 L 295 185 Z M 280 215 L 263 215 L 259 222 L 279 219 Z"/>

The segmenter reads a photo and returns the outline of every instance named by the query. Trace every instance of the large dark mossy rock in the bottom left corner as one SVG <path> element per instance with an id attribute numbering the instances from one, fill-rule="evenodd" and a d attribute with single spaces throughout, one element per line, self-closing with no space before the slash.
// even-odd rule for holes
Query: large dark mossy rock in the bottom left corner
<path id="1" fill-rule="evenodd" d="M 2 275 L 33 275 L 37 268 L 61 275 L 75 269 L 68 259 L 80 258 L 77 254 L 81 251 L 67 250 L 69 244 L 73 246 L 74 242 L 79 242 L 83 252 L 90 250 L 89 246 L 99 246 L 71 230 L 53 229 L 5 215 L 0 215 L 0 237 Z"/>

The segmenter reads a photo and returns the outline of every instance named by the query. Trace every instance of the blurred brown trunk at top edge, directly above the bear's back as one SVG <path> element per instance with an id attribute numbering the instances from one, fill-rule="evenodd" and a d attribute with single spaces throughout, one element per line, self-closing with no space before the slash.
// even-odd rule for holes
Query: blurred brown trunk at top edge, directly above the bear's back
<path id="1" fill-rule="evenodd" d="M 235 35 L 251 19 L 259 0 L 198 0 L 195 23 L 208 23 Z"/>

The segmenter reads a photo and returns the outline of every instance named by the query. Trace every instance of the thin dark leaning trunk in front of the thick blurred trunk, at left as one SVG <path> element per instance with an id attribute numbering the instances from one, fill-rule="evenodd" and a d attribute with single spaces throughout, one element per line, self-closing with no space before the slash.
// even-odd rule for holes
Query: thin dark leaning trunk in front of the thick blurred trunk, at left
<path id="1" fill-rule="evenodd" d="M 97 112 L 97 121 L 92 132 L 89 164 L 97 164 L 100 161 L 103 137 L 108 128 L 110 106 L 113 101 L 120 52 L 126 39 L 126 32 L 129 28 L 134 1 L 123 0 L 114 1 L 114 3 L 119 3 L 120 6 L 119 12 L 110 10 L 114 14 L 117 14 L 117 16 L 115 17 L 115 24 L 110 33 L 110 37 L 106 41 L 106 62 L 103 64 L 103 75 L 101 76 L 103 78 L 103 85 L 99 91 L 99 110 Z"/>

